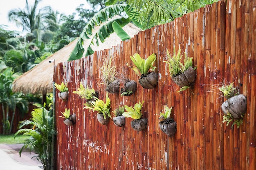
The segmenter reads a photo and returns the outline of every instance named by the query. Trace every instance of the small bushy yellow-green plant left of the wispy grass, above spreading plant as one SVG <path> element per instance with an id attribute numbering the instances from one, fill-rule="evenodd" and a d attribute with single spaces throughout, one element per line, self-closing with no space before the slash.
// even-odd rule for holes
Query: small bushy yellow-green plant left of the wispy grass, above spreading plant
<path id="1" fill-rule="evenodd" d="M 86 102 L 90 102 L 91 100 L 93 100 L 94 97 L 99 97 L 99 92 L 95 91 L 94 88 L 89 88 L 89 86 L 87 85 L 87 88 L 85 88 L 82 84 L 82 82 L 80 82 L 80 87 L 77 89 L 78 91 L 73 91 L 74 94 L 78 94 L 82 99 L 85 99 Z"/>

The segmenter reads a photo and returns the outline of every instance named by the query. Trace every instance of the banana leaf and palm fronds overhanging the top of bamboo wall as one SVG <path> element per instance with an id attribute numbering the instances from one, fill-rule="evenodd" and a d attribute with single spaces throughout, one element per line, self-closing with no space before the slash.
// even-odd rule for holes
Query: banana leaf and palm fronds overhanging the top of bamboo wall
<path id="1" fill-rule="evenodd" d="M 69 60 L 76 60 L 81 58 L 83 54 L 88 56 L 94 52 L 91 46 L 88 46 L 87 49 L 83 49 L 83 41 L 85 39 L 90 39 L 91 44 L 94 44 L 95 40 L 97 45 L 99 45 L 99 40 L 103 42 L 115 31 L 122 40 L 127 40 L 130 37 L 127 36 L 127 33 L 121 29 L 121 27 L 129 22 L 134 23 L 143 30 L 149 29 L 155 25 L 171 22 L 185 13 L 217 1 L 218 0 L 106 0 L 106 7 L 96 13 L 86 24 Z M 122 16 L 118 18 L 118 21 L 115 18 L 117 15 Z M 92 30 L 96 28 L 95 26 L 99 25 L 101 26 L 99 31 L 92 34 Z"/>

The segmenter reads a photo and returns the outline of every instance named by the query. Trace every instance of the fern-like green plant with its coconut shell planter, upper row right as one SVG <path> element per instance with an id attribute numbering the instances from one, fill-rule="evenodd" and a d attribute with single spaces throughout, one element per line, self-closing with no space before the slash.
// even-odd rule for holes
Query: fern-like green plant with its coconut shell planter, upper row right
<path id="1" fill-rule="evenodd" d="M 174 48 L 174 55 L 171 57 L 170 53 L 167 49 L 167 61 L 164 61 L 168 64 L 170 75 L 173 79 L 173 82 L 180 86 L 180 91 L 184 91 L 187 88 L 190 88 L 196 78 L 195 68 L 192 67 L 193 61 L 192 57 L 188 57 L 186 53 L 184 53 L 185 58 L 184 62 L 181 62 L 182 55 L 181 50 L 179 49 L 177 55 L 175 55 L 175 48 Z M 178 91 L 178 92 L 180 92 Z"/>

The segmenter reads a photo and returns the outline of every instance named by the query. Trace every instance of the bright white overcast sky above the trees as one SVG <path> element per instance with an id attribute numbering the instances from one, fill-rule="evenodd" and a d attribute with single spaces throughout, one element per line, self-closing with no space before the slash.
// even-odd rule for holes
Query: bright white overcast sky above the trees
<path id="1" fill-rule="evenodd" d="M 28 0 L 29 5 L 33 5 L 35 0 Z M 70 15 L 76 12 L 76 7 L 80 4 L 87 4 L 86 0 L 42 0 L 38 3 L 38 9 L 50 6 L 54 11 L 59 13 L 64 13 L 65 15 Z M 0 25 L 7 25 L 7 30 L 9 31 L 22 31 L 22 28 L 17 28 L 16 24 L 12 24 L 8 21 L 7 13 L 11 9 L 20 8 L 24 9 L 26 5 L 26 0 L 0 0 Z M 84 6 L 86 7 L 86 5 Z"/>

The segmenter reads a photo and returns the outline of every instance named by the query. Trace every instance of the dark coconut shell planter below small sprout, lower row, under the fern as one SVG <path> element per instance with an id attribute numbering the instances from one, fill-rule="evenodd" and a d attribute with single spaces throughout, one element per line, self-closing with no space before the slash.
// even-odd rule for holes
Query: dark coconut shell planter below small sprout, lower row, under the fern
<path id="1" fill-rule="evenodd" d="M 172 137 L 177 130 L 177 123 L 171 119 L 167 118 L 159 122 L 159 128 L 169 137 Z"/>

